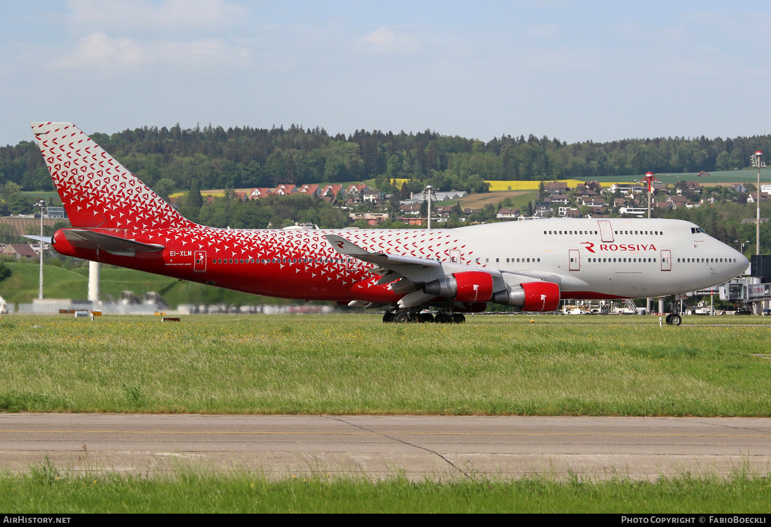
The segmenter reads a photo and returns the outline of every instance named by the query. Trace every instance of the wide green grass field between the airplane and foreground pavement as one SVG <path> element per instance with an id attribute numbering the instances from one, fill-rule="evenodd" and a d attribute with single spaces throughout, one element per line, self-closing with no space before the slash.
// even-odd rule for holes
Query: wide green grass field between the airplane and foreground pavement
<path id="1" fill-rule="evenodd" d="M 4 316 L 8 411 L 771 415 L 760 317 Z M 733 325 L 729 323 L 739 323 Z M 39 326 L 39 327 L 33 327 Z"/>

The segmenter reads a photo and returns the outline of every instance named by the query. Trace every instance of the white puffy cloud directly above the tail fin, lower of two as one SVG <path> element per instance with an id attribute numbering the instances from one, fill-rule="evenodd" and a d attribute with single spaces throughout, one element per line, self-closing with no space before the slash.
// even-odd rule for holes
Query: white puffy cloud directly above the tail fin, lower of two
<path id="1" fill-rule="evenodd" d="M 196 67 L 243 63 L 247 55 L 246 49 L 235 47 L 223 39 L 136 42 L 133 39 L 112 39 L 96 32 L 79 39 L 72 51 L 59 58 L 57 65 L 109 69 L 147 65 Z"/>

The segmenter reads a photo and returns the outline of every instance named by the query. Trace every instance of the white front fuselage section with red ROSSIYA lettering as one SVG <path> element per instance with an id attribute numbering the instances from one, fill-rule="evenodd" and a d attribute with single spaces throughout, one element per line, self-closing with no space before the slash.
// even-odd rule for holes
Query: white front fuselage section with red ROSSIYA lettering
<path id="1" fill-rule="evenodd" d="M 436 231 L 464 246 L 457 263 L 556 281 L 563 298 L 685 293 L 730 280 L 749 264 L 682 220 L 554 218 Z"/>

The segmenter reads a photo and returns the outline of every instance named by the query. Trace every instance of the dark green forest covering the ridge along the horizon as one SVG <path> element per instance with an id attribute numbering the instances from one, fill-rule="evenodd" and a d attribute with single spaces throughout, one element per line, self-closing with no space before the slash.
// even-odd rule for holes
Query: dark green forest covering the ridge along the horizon
<path id="1" fill-rule="evenodd" d="M 530 135 L 487 143 L 460 136 L 356 130 L 332 136 L 292 125 L 261 129 L 179 124 L 94 133 L 96 143 L 161 194 L 202 189 L 407 178 L 439 190 L 484 192 L 484 180 L 589 180 L 645 171 L 698 172 L 745 168 L 756 150 L 771 151 L 771 135 L 733 139 L 682 137 L 567 144 Z M 32 141 L 0 147 L 0 185 L 53 190 Z M 421 185 L 422 186 L 422 185 Z"/>

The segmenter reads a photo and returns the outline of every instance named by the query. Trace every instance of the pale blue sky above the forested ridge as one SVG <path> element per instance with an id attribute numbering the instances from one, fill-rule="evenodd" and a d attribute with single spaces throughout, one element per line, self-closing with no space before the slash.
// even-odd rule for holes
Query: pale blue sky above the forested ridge
<path id="1" fill-rule="evenodd" d="M 212 123 L 769 133 L 767 2 L 0 0 L 0 144 Z M 754 22 L 753 22 L 754 21 Z"/>

